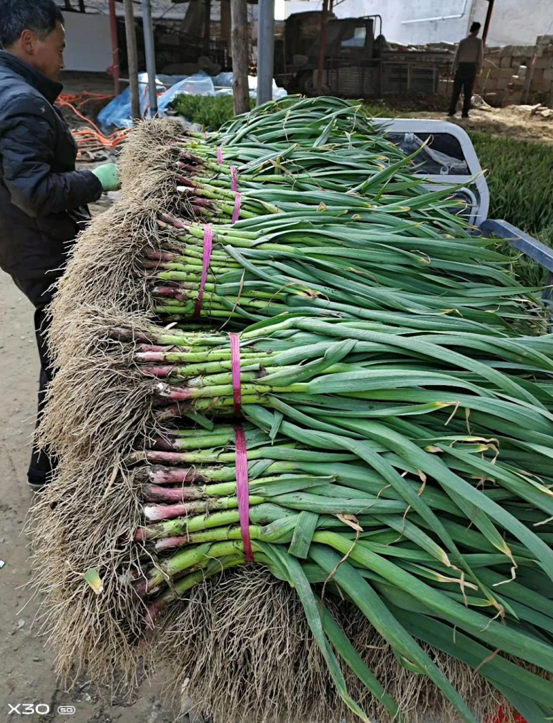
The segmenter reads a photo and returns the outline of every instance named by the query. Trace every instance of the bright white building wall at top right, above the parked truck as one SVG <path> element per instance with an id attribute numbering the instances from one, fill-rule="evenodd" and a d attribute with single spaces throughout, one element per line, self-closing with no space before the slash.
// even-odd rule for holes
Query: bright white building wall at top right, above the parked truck
<path id="1" fill-rule="evenodd" d="M 283 20 L 293 12 L 320 10 L 321 0 L 276 0 L 275 12 Z M 472 20 L 484 25 L 487 0 L 343 0 L 336 5 L 338 17 L 382 15 L 382 30 L 387 40 L 424 44 L 457 42 L 468 32 Z M 464 12 L 463 12 L 464 11 Z M 443 17 L 463 13 L 449 20 L 408 23 L 425 17 Z M 496 0 L 488 35 L 488 46 L 531 45 L 536 35 L 553 30 L 552 0 Z"/>

